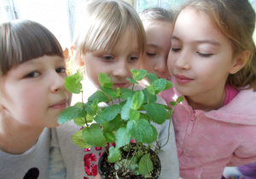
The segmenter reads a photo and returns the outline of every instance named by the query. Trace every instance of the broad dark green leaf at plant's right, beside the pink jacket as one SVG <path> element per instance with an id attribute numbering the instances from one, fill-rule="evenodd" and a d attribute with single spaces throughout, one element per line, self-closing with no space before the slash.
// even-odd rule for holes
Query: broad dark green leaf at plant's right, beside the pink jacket
<path id="1" fill-rule="evenodd" d="M 158 103 L 150 103 L 144 106 L 148 118 L 156 124 L 163 124 L 166 121 L 166 108 Z"/>

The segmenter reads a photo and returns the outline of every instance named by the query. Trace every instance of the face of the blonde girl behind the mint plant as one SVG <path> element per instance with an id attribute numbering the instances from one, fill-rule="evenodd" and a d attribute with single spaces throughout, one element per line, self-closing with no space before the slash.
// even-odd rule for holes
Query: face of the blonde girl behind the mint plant
<path id="1" fill-rule="evenodd" d="M 139 69 L 142 61 L 141 52 L 137 44 L 137 38 L 133 38 L 131 32 L 125 32 L 114 51 L 96 50 L 82 55 L 85 72 L 98 88 L 99 72 L 104 72 L 113 83 L 113 89 L 128 88 L 131 83 L 126 78 L 132 78 L 131 69 Z"/>

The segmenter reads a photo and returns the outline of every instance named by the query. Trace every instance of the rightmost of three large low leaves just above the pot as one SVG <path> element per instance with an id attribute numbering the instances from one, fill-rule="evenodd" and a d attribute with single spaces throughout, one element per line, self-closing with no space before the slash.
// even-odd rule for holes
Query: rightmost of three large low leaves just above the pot
<path id="1" fill-rule="evenodd" d="M 154 130 L 144 118 L 129 120 L 126 128 L 129 130 L 131 137 L 135 138 L 137 141 L 153 143 L 156 140 Z"/>

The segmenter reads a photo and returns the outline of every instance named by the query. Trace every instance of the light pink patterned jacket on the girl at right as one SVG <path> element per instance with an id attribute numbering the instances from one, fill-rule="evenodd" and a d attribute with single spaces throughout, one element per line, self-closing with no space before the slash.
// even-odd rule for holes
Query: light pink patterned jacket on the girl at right
<path id="1" fill-rule="evenodd" d="M 171 81 L 172 82 L 172 81 Z M 225 106 L 204 112 L 186 99 L 175 107 L 175 130 L 180 176 L 219 179 L 225 166 L 256 161 L 256 92 L 226 88 Z M 175 85 L 160 94 L 167 102 L 180 96 Z"/>

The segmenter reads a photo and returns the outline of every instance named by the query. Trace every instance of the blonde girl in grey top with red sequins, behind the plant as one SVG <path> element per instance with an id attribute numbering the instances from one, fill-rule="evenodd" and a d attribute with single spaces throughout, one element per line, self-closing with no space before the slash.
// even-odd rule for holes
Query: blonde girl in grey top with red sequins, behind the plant
<path id="1" fill-rule="evenodd" d="M 74 49 L 75 60 L 80 66 L 85 66 L 86 77 L 83 82 L 84 102 L 88 96 L 99 88 L 98 73 L 104 72 L 113 83 L 113 88 L 130 88 L 131 69 L 139 70 L 144 61 L 146 38 L 143 23 L 137 11 L 130 4 L 119 0 L 96 0 L 86 3 L 83 7 L 75 29 Z M 143 88 L 137 85 L 135 89 Z M 73 103 L 81 101 L 80 95 L 73 96 Z M 162 102 L 165 102 L 162 100 Z M 108 105 L 108 104 L 107 104 Z M 67 123 L 70 124 L 73 121 Z M 57 130 L 65 130 L 63 124 Z M 160 139 L 166 140 L 168 125 L 157 127 Z M 177 151 L 171 128 L 171 136 L 166 147 L 160 151 L 162 170 L 160 178 L 178 178 Z M 70 136 L 71 137 L 71 136 Z M 67 142 L 60 139 L 60 145 Z M 72 142 L 72 141 L 68 141 Z M 64 145 L 63 145 L 64 146 Z M 75 150 L 73 150 L 75 148 Z M 84 177 L 96 176 L 97 161 L 102 150 L 69 147 L 63 153 L 82 153 L 74 160 L 80 165 L 75 170 L 82 170 Z M 65 157 L 65 154 L 63 154 Z M 83 158 L 84 157 L 84 158 Z M 68 173 L 68 172 L 67 172 Z M 75 174 L 75 171 L 74 171 Z"/>

